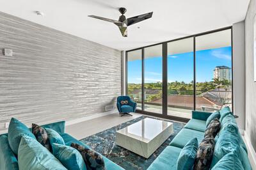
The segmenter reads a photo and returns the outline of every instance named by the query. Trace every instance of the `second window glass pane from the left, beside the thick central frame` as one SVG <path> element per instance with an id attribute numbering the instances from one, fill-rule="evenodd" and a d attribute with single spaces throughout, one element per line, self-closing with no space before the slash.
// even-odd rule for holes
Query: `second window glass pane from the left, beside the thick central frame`
<path id="1" fill-rule="evenodd" d="M 162 45 L 144 49 L 144 111 L 162 114 Z"/>

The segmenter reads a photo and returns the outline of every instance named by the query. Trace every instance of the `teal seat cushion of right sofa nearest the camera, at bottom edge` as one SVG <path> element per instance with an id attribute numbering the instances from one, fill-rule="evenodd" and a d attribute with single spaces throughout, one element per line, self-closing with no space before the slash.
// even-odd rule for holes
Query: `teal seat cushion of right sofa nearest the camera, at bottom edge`
<path id="1" fill-rule="evenodd" d="M 162 153 L 154 160 L 147 170 L 176 170 L 177 160 L 180 155 L 180 148 L 174 146 L 167 146 Z"/>

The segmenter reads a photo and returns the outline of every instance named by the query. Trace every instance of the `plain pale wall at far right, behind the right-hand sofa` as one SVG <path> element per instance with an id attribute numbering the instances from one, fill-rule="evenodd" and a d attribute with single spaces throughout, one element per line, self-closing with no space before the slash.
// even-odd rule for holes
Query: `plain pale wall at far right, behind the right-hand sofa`
<path id="1" fill-rule="evenodd" d="M 245 26 L 245 137 L 254 151 L 256 161 L 256 82 L 253 75 L 253 20 L 256 0 L 251 0 L 244 22 Z"/>

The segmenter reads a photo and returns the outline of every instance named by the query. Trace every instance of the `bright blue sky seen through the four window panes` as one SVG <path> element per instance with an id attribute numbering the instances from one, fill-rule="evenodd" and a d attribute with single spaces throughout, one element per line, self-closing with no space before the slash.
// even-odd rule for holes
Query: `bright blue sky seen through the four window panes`
<path id="1" fill-rule="evenodd" d="M 212 81 L 216 66 L 231 68 L 231 47 L 196 51 L 196 81 Z M 145 82 L 162 81 L 162 58 L 145 59 Z M 168 82 L 193 81 L 193 52 L 168 56 Z M 141 83 L 141 60 L 128 62 L 128 82 Z"/>

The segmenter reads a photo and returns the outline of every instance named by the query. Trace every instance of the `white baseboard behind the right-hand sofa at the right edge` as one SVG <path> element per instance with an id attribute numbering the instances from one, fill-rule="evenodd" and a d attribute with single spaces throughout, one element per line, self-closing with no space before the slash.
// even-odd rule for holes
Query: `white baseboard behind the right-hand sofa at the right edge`
<path id="1" fill-rule="evenodd" d="M 246 131 L 244 131 L 243 138 L 244 138 L 244 142 L 245 142 L 245 144 L 247 146 L 248 158 L 250 160 L 252 169 L 256 170 L 256 153 L 255 153 L 255 150 L 253 149 L 252 143 L 251 143 L 251 141 L 249 139 L 249 136 L 246 133 Z"/>

